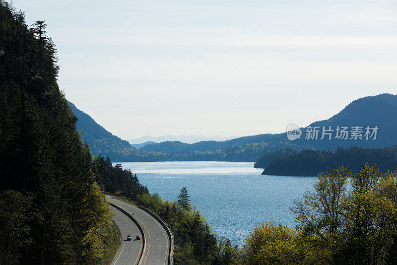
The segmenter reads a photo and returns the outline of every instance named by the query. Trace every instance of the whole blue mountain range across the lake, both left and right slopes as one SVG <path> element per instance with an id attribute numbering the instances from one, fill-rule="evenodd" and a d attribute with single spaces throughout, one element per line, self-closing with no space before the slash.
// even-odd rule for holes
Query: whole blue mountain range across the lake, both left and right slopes
<path id="1" fill-rule="evenodd" d="M 164 141 L 145 144 L 136 149 L 128 141 L 106 131 L 77 108 L 73 107 L 73 113 L 78 119 L 77 129 L 80 130 L 83 140 L 91 145 L 91 152 L 94 155 L 109 156 L 112 161 L 255 161 L 267 152 L 282 148 L 335 150 L 339 146 L 385 147 L 397 143 L 397 96 L 392 94 L 357 99 L 330 119 L 312 123 L 310 127 L 321 130 L 331 126 L 333 130 L 331 139 L 328 136 L 320 139 L 320 132 L 317 140 L 305 139 L 308 130 L 306 127 L 301 128 L 302 136 L 294 141 L 288 140 L 286 133 L 267 133 L 225 141 Z M 361 138 L 350 138 L 352 132 L 349 132 L 346 139 L 336 138 L 338 126 L 347 127 L 350 131 L 359 126 L 363 130 Z M 376 139 L 365 138 L 367 126 L 379 129 Z"/>

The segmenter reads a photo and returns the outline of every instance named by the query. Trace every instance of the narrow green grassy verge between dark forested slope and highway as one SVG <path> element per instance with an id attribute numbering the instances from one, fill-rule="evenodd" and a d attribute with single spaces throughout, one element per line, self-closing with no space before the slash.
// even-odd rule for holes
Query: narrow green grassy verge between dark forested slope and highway
<path id="1" fill-rule="evenodd" d="M 105 247 L 102 261 L 99 265 L 109 265 L 115 257 L 120 246 L 120 232 L 114 222 L 106 227 Z"/>

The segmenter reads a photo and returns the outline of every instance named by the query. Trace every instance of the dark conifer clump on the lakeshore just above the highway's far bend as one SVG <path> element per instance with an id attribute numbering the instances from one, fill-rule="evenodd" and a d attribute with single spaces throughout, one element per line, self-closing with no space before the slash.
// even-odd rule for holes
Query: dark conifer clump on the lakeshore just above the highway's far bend
<path id="1" fill-rule="evenodd" d="M 123 169 L 120 164 L 112 165 L 109 158 L 96 157 L 93 162 L 93 171 L 97 177 L 97 183 L 102 190 L 108 193 L 123 191 L 126 193 L 148 194 L 147 188 L 139 183 L 136 174 L 130 169 Z"/>

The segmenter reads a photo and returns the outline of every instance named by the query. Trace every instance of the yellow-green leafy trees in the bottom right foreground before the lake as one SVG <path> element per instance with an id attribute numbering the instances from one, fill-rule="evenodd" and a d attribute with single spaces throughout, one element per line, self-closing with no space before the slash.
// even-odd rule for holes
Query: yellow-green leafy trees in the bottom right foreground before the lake
<path id="1" fill-rule="evenodd" d="M 350 180 L 350 181 L 349 181 Z M 397 264 L 397 171 L 365 165 L 357 173 L 320 173 L 291 208 L 296 229 L 257 225 L 236 264 Z"/>

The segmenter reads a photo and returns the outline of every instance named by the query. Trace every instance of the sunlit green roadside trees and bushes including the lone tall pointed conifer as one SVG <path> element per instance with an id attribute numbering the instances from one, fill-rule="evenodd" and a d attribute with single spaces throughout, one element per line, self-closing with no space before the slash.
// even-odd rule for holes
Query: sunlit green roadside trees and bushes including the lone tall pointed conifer
<path id="1" fill-rule="evenodd" d="M 170 226 L 175 238 L 175 264 L 229 265 L 237 247 L 230 240 L 211 231 L 196 206 L 190 205 L 186 188 L 178 202 L 163 200 L 158 194 L 140 196 L 135 204 L 151 209 Z"/>

